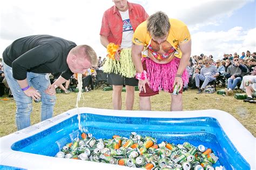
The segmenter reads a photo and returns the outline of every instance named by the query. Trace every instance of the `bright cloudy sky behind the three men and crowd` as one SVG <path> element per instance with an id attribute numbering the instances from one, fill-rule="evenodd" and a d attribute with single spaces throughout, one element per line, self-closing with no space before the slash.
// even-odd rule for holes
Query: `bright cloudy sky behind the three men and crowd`
<path id="1" fill-rule="evenodd" d="M 191 55 L 213 55 L 249 50 L 256 52 L 255 0 L 130 0 L 141 4 L 149 15 L 163 11 L 183 21 L 192 38 Z M 50 34 L 87 44 L 98 56 L 106 55 L 99 32 L 111 0 L 0 1 L 0 53 L 12 41 L 33 34 Z M 0 55 L 2 58 L 2 55 Z"/>

